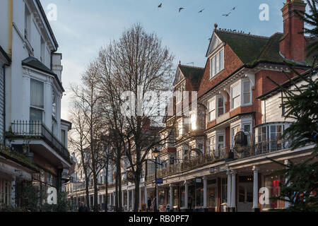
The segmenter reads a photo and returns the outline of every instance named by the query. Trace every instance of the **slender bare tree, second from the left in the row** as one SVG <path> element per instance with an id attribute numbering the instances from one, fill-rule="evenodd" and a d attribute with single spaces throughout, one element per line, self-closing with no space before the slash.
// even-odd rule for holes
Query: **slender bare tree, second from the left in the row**
<path id="1" fill-rule="evenodd" d="M 86 73 L 81 77 L 80 86 L 71 85 L 73 101 L 83 117 L 83 131 L 90 158 L 90 174 L 93 177 L 94 211 L 98 211 L 98 174 L 105 168 L 104 153 L 102 150 L 102 136 L 105 134 L 105 124 L 100 111 L 100 95 L 96 80 L 97 68 L 93 63 L 88 66 Z"/>

